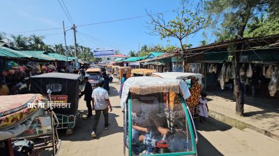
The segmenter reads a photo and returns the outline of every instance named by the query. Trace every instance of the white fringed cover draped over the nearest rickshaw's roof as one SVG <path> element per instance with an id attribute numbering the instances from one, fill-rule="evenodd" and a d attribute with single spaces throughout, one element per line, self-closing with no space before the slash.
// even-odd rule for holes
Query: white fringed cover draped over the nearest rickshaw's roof
<path id="1" fill-rule="evenodd" d="M 184 99 L 190 97 L 189 89 L 183 80 L 156 78 L 149 76 L 133 77 L 128 78 L 123 85 L 121 96 L 122 109 L 124 109 L 129 92 L 142 95 L 160 92 L 176 92 L 181 93 Z"/>

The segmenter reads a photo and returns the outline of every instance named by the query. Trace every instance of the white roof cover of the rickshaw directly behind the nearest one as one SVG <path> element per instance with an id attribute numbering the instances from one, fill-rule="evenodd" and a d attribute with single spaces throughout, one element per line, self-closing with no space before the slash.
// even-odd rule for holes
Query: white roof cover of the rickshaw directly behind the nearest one
<path id="1" fill-rule="evenodd" d="M 152 73 L 153 75 L 159 76 L 160 78 L 169 78 L 182 80 L 184 78 L 189 78 L 195 76 L 199 78 L 199 84 L 202 84 L 202 74 L 200 73 L 182 73 L 182 72 L 166 72 L 166 73 Z"/>

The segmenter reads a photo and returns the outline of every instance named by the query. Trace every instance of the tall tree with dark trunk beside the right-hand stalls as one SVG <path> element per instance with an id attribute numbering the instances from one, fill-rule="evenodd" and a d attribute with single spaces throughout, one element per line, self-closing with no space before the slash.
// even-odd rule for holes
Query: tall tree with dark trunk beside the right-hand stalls
<path id="1" fill-rule="evenodd" d="M 278 15 L 278 0 L 204 0 L 204 10 L 211 20 L 211 26 L 217 33 L 225 33 L 233 39 L 243 38 L 244 31 L 250 19 L 270 13 Z M 221 22 L 221 24 L 220 24 Z M 240 52 L 243 44 L 232 44 L 228 49 L 233 58 L 234 67 L 234 97 L 236 98 L 236 114 L 243 116 L 244 95 L 241 89 L 239 75 Z M 236 50 L 232 52 L 232 50 Z"/>

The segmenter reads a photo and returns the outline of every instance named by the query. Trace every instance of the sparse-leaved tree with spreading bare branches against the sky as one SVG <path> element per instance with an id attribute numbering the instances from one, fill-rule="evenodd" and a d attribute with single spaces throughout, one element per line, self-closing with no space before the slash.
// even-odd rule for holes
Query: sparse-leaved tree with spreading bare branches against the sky
<path id="1" fill-rule="evenodd" d="M 181 0 L 181 7 L 177 8 L 176 17 L 166 21 L 163 14 L 149 15 L 150 21 L 147 22 L 151 35 L 160 35 L 160 38 L 174 37 L 179 40 L 181 53 L 183 53 L 183 40 L 187 36 L 197 33 L 206 26 L 206 19 L 199 16 L 199 12 L 192 12 L 186 9 L 186 1 Z M 184 61 L 183 61 L 184 63 Z M 184 68 L 183 68 L 184 69 Z"/>

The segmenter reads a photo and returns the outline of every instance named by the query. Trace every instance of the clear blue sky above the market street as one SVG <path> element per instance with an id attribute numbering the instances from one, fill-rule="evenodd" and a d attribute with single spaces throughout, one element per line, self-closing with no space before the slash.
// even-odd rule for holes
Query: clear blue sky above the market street
<path id="1" fill-rule="evenodd" d="M 62 0 L 60 0 L 62 3 Z M 152 12 L 165 12 L 179 7 L 178 0 L 63 0 L 70 12 L 75 25 L 77 25 L 77 42 L 91 49 L 116 49 L 121 53 L 130 50 L 137 51 L 138 45 L 143 44 L 170 44 L 179 45 L 175 38 L 160 40 L 158 36 L 148 35 L 146 21 L 149 17 L 141 17 L 126 21 L 116 21 L 106 24 L 80 26 L 115 19 L 126 19 L 146 15 L 146 10 Z M 63 3 L 62 3 L 63 5 Z M 71 26 L 63 12 L 58 0 L 13 0 L 1 2 L 0 32 L 7 34 L 22 31 L 33 31 L 47 28 L 61 28 L 62 21 L 66 26 Z M 174 12 L 165 13 L 167 19 L 175 17 Z M 63 44 L 62 29 L 50 31 L 36 31 L 20 33 L 22 35 L 45 35 L 47 44 Z M 85 34 L 85 35 L 84 35 Z M 67 32 L 67 45 L 73 44 L 73 31 Z M 194 37 L 188 37 L 187 43 L 198 46 L 204 40 L 202 31 Z"/>

